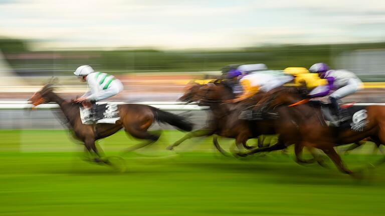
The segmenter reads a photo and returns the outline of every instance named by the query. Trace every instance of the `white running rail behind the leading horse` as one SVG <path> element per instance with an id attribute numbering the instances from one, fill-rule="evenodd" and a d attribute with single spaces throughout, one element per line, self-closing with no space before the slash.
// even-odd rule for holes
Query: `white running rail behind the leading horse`
<path id="1" fill-rule="evenodd" d="M 99 102 L 98 102 L 99 103 Z M 106 103 L 106 102 L 100 102 Z M 125 104 L 125 103 L 135 103 L 135 104 L 145 104 L 150 105 L 159 109 L 164 110 L 205 110 L 208 109 L 207 106 L 198 106 L 197 104 L 190 103 L 185 104 L 183 102 L 156 102 L 156 101 L 147 101 L 147 102 L 111 102 L 114 104 Z M 28 101 L 12 101 L 12 100 L 2 100 L 0 101 L 0 109 L 30 109 L 32 104 Z M 56 103 L 40 104 L 35 106 L 36 109 L 55 109 L 59 108 L 59 105 Z"/>

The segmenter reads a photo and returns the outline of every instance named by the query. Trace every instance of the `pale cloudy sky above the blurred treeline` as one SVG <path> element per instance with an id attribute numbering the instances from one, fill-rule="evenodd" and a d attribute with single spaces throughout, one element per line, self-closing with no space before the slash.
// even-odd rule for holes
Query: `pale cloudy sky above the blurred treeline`
<path id="1" fill-rule="evenodd" d="M 232 48 L 385 40 L 383 0 L 0 0 L 0 36 L 37 49 Z"/>

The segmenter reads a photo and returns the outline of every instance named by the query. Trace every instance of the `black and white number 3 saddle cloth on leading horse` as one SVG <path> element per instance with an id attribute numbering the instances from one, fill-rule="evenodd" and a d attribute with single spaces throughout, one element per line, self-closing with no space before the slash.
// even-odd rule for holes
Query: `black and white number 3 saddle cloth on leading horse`
<path id="1" fill-rule="evenodd" d="M 115 123 L 120 119 L 117 104 L 103 103 L 96 104 L 95 113 L 91 112 L 91 107 L 80 107 L 80 118 L 83 124 L 93 123 Z"/>

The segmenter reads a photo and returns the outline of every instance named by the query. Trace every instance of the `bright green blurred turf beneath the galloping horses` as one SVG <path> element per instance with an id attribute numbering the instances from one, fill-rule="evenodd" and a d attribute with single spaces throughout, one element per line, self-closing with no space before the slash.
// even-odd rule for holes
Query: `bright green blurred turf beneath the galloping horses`
<path id="1" fill-rule="evenodd" d="M 385 167 L 364 169 L 363 178 L 354 179 L 339 173 L 330 161 L 329 169 L 300 166 L 291 154 L 281 152 L 244 160 L 225 158 L 213 150 L 210 139 L 189 141 L 176 153 L 163 150 L 181 135 L 165 131 L 153 146 L 126 154 L 127 170 L 121 173 L 83 161 L 82 146 L 71 142 L 65 131 L 0 131 L 0 215 L 383 215 L 385 211 Z M 99 144 L 106 155 L 117 155 L 134 142 L 119 132 Z M 379 158 L 343 156 L 353 170 Z"/>

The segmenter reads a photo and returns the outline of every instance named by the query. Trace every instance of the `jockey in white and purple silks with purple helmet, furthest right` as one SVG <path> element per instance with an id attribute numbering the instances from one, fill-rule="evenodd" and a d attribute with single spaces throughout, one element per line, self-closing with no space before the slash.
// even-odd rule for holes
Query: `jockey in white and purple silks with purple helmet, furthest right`
<path id="1" fill-rule="evenodd" d="M 327 84 L 315 87 L 310 93 L 310 97 L 322 97 L 334 90 L 329 95 L 329 99 L 332 106 L 333 114 L 337 117 L 337 123 L 342 122 L 347 116 L 341 116 L 343 114 L 338 106 L 338 99 L 352 94 L 362 89 L 361 80 L 348 70 L 330 70 L 329 66 L 325 63 L 315 63 L 309 68 L 310 72 L 318 73 L 321 78 L 327 80 Z"/>

